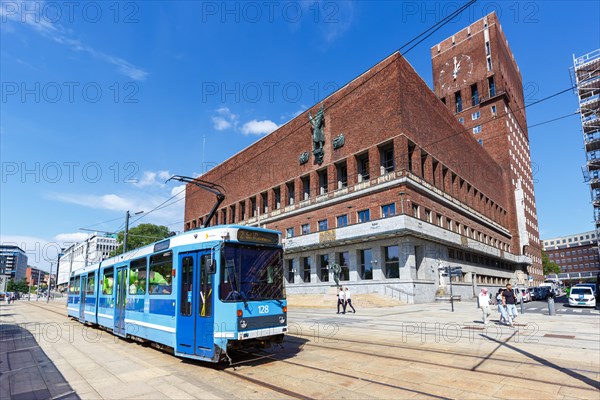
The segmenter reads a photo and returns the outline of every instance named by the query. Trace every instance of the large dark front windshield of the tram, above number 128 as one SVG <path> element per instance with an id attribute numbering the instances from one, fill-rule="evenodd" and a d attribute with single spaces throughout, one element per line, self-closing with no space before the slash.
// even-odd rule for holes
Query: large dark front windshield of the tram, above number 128
<path id="1" fill-rule="evenodd" d="M 223 301 L 283 299 L 283 250 L 225 245 L 219 297 Z"/>

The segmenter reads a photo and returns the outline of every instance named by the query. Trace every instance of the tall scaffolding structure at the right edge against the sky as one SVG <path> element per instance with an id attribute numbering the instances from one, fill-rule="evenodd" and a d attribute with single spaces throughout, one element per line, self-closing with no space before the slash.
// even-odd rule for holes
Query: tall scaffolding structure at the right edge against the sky
<path id="1" fill-rule="evenodd" d="M 571 77 L 579 98 L 586 154 L 583 177 L 590 185 L 596 235 L 600 235 L 600 49 L 573 56 Z M 600 243 L 600 241 L 598 242 Z"/>

